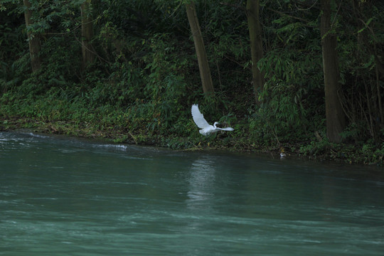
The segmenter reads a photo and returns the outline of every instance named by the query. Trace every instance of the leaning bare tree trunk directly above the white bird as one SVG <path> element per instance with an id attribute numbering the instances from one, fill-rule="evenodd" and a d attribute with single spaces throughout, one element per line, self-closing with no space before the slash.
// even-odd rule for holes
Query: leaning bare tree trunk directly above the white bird
<path id="1" fill-rule="evenodd" d="M 196 55 L 198 58 L 198 69 L 200 70 L 201 83 L 203 84 L 203 92 L 205 94 L 213 95 L 212 78 L 210 77 L 210 69 L 206 55 L 206 48 L 204 48 L 203 37 L 201 36 L 200 25 L 196 14 L 195 4 L 193 1 L 186 4 L 186 13 L 188 16 L 189 25 L 195 43 Z"/>

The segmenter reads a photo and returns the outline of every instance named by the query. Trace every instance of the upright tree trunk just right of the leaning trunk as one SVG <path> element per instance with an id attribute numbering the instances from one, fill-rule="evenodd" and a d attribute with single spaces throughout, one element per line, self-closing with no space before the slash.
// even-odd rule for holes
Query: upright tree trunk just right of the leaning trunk
<path id="1" fill-rule="evenodd" d="M 252 55 L 252 83 L 257 105 L 260 105 L 259 92 L 264 86 L 264 78 L 257 62 L 262 58 L 262 26 L 259 19 L 260 0 L 247 0 L 248 30 Z"/>

